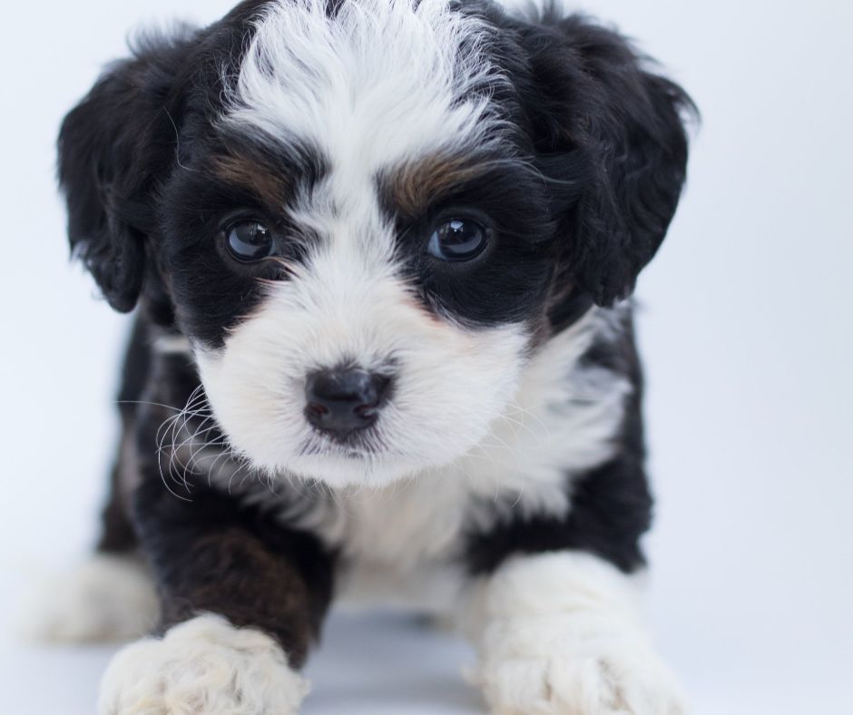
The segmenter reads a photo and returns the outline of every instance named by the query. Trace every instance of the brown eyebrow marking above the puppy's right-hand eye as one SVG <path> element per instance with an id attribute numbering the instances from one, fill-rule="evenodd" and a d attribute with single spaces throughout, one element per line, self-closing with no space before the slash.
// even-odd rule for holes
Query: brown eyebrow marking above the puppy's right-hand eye
<path id="1" fill-rule="evenodd" d="M 433 154 L 387 171 L 381 181 L 397 211 L 417 216 L 432 201 L 475 180 L 488 169 L 487 161 Z"/>

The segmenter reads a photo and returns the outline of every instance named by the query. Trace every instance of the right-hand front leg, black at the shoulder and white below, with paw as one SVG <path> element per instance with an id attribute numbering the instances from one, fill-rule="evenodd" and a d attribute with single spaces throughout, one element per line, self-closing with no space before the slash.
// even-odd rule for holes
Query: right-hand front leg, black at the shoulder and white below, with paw
<path id="1" fill-rule="evenodd" d="M 495 715 L 685 711 L 639 613 L 652 514 L 640 425 L 635 397 L 621 451 L 574 478 L 564 515 L 522 514 L 472 536 L 466 623 Z"/>

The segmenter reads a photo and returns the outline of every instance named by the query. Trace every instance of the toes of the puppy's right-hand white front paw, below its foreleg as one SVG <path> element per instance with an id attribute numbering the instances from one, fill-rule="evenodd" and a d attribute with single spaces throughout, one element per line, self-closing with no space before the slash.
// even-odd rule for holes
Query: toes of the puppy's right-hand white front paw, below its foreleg
<path id="1" fill-rule="evenodd" d="M 669 671 L 642 641 L 582 617 L 493 623 L 485 644 L 475 680 L 494 715 L 686 711 Z"/>

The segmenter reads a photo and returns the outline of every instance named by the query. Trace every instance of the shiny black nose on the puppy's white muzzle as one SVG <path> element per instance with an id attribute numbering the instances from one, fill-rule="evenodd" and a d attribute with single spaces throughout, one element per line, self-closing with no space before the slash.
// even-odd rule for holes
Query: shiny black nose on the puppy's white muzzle
<path id="1" fill-rule="evenodd" d="M 319 429 L 348 436 L 377 421 L 390 382 L 356 368 L 315 372 L 305 384 L 305 416 Z"/>

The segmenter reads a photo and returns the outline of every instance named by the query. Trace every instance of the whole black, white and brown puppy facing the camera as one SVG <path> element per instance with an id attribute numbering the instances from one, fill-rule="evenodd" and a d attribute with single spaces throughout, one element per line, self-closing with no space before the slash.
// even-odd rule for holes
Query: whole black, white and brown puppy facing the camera
<path id="1" fill-rule="evenodd" d="M 619 34 L 479 1 L 247 0 L 109 68 L 59 177 L 136 308 L 123 438 L 44 620 L 152 626 L 102 715 L 295 713 L 338 597 L 453 614 L 494 713 L 682 711 L 628 297 L 689 113 Z"/>

